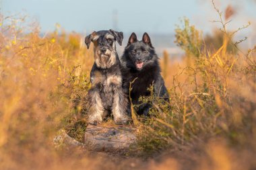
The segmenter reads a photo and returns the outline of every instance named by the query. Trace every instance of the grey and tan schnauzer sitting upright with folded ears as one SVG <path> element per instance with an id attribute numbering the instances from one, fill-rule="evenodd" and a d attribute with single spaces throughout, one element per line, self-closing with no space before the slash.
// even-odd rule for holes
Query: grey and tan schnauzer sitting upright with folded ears
<path id="1" fill-rule="evenodd" d="M 116 44 L 122 45 L 123 32 L 103 30 L 86 36 L 86 46 L 94 43 L 94 65 L 90 73 L 88 91 L 90 124 L 99 124 L 110 112 L 116 124 L 126 124 L 127 96 L 122 88 L 121 62 Z"/>

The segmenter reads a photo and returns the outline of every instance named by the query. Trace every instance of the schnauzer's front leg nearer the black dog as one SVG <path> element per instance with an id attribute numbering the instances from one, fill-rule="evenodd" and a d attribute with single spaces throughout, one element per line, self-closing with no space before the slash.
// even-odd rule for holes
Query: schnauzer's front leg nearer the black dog
<path id="1" fill-rule="evenodd" d="M 115 89 L 112 112 L 116 124 L 127 124 L 127 104 L 128 100 L 123 89 L 121 87 Z"/>

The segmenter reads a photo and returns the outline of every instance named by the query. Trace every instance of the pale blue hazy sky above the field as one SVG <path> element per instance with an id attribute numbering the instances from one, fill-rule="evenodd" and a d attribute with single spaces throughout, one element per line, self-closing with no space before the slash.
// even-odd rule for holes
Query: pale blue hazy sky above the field
<path id="1" fill-rule="evenodd" d="M 230 28 L 243 26 L 256 20 L 254 0 L 216 0 L 224 10 L 231 4 L 237 13 Z M 5 15 L 24 13 L 36 19 L 42 32 L 52 31 L 59 23 L 67 32 L 91 32 L 115 27 L 113 15 L 118 15 L 118 30 L 171 34 L 183 16 L 197 28 L 210 32 L 218 26 L 209 22 L 217 19 L 210 0 L 0 0 Z M 253 30 L 253 29 L 252 29 Z"/>

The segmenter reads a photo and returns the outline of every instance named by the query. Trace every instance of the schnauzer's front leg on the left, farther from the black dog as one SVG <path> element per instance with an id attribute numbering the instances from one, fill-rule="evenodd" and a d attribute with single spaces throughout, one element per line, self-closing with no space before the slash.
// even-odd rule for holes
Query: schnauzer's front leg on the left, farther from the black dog
<path id="1" fill-rule="evenodd" d="M 99 124 L 102 122 L 102 116 L 104 115 L 100 93 L 98 90 L 92 88 L 88 91 L 88 95 L 90 99 L 89 124 Z"/>

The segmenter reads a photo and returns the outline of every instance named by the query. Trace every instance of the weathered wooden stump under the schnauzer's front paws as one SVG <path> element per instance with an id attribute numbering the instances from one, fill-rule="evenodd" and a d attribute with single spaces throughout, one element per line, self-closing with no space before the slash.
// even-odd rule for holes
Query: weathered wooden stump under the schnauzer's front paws
<path id="1" fill-rule="evenodd" d="M 92 151 L 125 153 L 135 140 L 135 128 L 129 125 L 100 124 L 86 128 L 85 146 Z"/>

